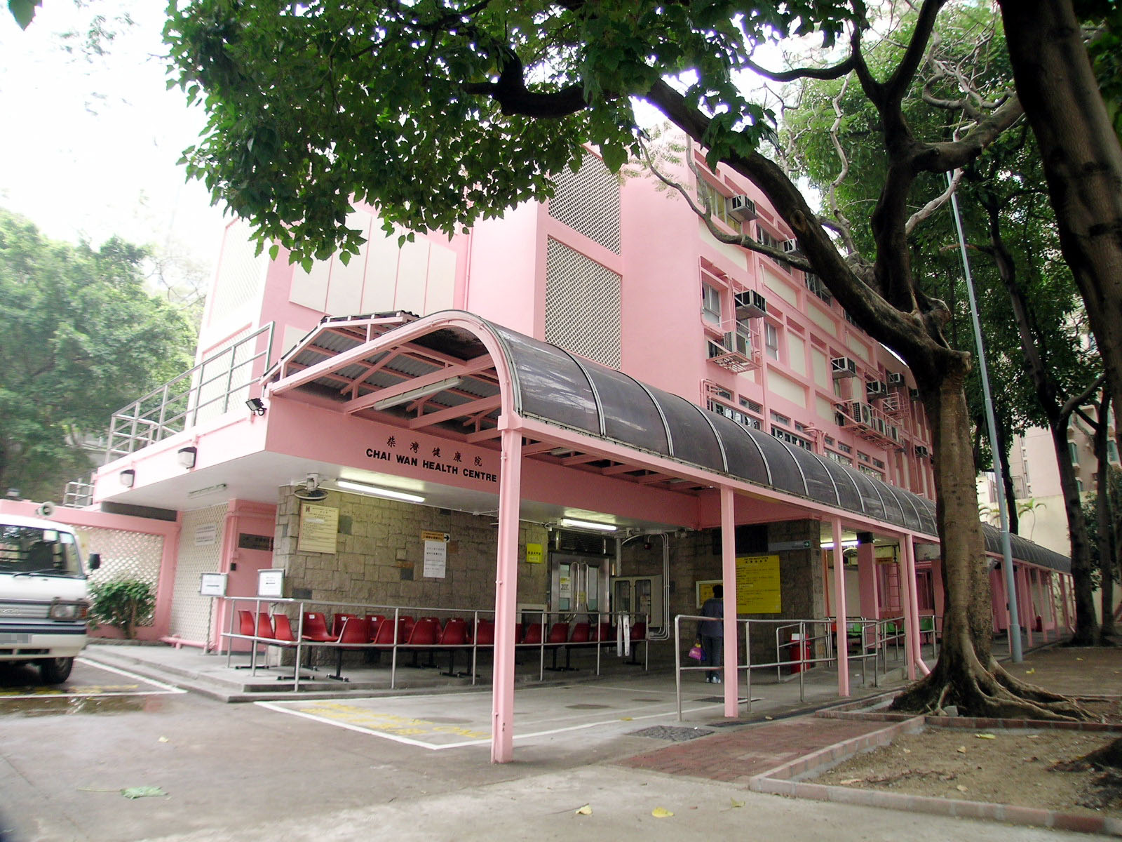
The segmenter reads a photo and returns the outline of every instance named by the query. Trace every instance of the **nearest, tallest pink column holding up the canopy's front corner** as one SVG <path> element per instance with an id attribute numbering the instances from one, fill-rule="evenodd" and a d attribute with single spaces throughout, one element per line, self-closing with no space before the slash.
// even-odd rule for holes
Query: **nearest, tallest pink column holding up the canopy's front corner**
<path id="1" fill-rule="evenodd" d="M 495 675 L 491 684 L 491 762 L 514 757 L 514 613 L 518 593 L 518 505 L 522 432 L 504 428 L 498 475 L 498 560 L 495 568 Z"/>

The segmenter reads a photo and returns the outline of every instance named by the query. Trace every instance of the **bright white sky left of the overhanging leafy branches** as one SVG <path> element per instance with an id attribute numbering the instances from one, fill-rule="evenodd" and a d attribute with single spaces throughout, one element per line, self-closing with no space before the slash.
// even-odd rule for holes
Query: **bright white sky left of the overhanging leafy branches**
<path id="1" fill-rule="evenodd" d="M 0 6 L 0 207 L 53 239 L 100 245 L 118 235 L 212 266 L 224 222 L 176 164 L 204 116 L 166 89 L 164 9 L 45 0 L 20 30 Z M 134 26 L 114 24 L 122 12 Z M 95 15 L 118 31 L 104 56 L 63 37 L 85 33 Z"/>

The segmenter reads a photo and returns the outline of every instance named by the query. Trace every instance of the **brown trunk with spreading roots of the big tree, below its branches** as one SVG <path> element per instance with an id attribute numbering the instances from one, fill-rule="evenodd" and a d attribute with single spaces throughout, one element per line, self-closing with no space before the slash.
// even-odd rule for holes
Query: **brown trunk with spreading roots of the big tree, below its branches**
<path id="1" fill-rule="evenodd" d="M 920 381 L 920 390 L 937 455 L 935 486 L 947 585 L 942 644 L 930 675 L 898 696 L 892 706 L 930 712 L 957 705 L 972 716 L 1083 719 L 1078 706 L 1063 696 L 1014 679 L 991 651 L 990 564 L 972 473 L 969 412 L 964 391 L 967 363 L 963 355 L 950 351 L 939 356 L 942 376 L 931 374 L 931 366 L 923 366 L 928 376 Z M 955 359 L 957 365 L 948 365 Z M 912 360 L 904 361 L 914 370 Z M 1010 633 L 1019 631 L 1011 629 Z"/>

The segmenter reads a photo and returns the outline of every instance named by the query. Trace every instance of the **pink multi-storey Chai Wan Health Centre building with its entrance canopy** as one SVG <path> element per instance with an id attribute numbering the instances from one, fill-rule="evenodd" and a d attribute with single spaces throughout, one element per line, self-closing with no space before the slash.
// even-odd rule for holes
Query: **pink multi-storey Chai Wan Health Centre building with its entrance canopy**
<path id="1" fill-rule="evenodd" d="M 696 161 L 718 225 L 798 249 L 751 183 Z M 720 244 L 591 154 L 549 203 L 451 239 L 399 246 L 369 208 L 349 225 L 361 254 L 311 272 L 255 257 L 231 225 L 195 369 L 113 418 L 95 504 L 178 527 L 157 637 L 221 642 L 210 573 L 230 596 L 273 569 L 310 603 L 494 612 L 495 760 L 519 611 L 626 615 L 657 647 L 724 580 L 729 639 L 737 613 L 833 625 L 843 606 L 900 617 L 925 668 L 929 428 L 911 373 L 813 276 Z M 1058 630 L 1066 559 L 1014 553 L 1037 600 L 1022 616 Z M 774 651 L 770 629 L 748 637 L 754 660 Z"/>

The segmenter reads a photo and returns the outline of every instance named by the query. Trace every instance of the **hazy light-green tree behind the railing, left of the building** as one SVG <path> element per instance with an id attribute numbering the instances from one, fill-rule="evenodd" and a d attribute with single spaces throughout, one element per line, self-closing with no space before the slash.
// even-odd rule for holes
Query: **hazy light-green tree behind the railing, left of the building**
<path id="1" fill-rule="evenodd" d="M 57 497 L 114 410 L 191 364 L 184 320 L 148 294 L 145 251 L 44 238 L 0 211 L 0 487 Z"/>

